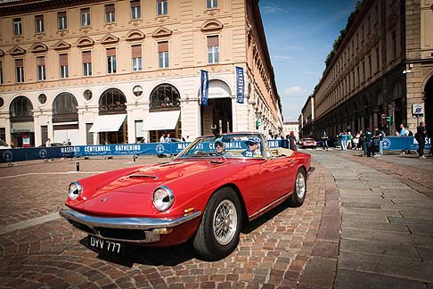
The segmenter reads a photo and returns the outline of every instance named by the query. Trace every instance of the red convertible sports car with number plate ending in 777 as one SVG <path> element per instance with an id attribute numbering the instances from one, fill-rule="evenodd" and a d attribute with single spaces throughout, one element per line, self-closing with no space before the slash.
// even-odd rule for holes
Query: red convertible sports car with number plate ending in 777
<path id="1" fill-rule="evenodd" d="M 219 260 L 236 248 L 242 222 L 285 201 L 302 205 L 310 161 L 258 133 L 200 136 L 173 161 L 73 182 L 60 214 L 98 250 L 191 240 L 201 258 Z"/>

